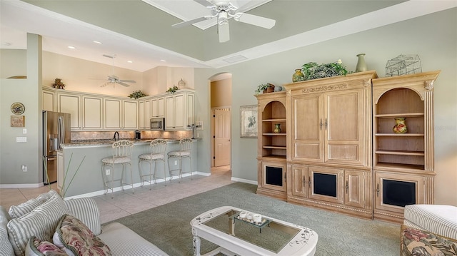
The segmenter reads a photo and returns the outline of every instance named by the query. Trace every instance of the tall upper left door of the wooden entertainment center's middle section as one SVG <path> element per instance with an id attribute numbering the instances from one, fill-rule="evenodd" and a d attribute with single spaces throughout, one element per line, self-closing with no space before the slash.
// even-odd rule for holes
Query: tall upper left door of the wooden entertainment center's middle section
<path id="1" fill-rule="evenodd" d="M 292 160 L 323 162 L 323 95 L 291 98 Z"/>

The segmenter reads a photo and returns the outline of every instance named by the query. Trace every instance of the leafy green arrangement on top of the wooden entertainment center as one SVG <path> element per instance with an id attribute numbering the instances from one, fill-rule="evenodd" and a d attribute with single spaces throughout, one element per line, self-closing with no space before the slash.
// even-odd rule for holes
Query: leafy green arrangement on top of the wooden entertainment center
<path id="1" fill-rule="evenodd" d="M 331 76 L 346 76 L 346 74 L 348 73 L 348 71 L 346 70 L 346 66 L 344 66 L 341 59 L 334 63 L 327 63 L 321 65 L 318 65 L 318 63 L 316 62 L 309 62 L 303 64 L 301 71 L 305 76 L 305 80 L 312 80 Z"/>

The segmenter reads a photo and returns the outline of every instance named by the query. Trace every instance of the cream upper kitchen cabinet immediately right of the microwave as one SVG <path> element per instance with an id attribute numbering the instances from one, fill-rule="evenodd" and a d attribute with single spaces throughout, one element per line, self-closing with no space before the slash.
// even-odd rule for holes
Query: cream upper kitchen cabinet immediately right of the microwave
<path id="1" fill-rule="evenodd" d="M 194 92 L 180 91 L 165 96 L 165 130 L 186 130 L 194 123 Z"/>

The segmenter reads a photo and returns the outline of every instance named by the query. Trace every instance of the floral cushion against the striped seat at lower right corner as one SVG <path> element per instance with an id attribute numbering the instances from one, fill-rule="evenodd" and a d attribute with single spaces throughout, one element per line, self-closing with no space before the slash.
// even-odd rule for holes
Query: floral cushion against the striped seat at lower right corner
<path id="1" fill-rule="evenodd" d="M 401 225 L 401 256 L 457 255 L 457 240 Z"/>

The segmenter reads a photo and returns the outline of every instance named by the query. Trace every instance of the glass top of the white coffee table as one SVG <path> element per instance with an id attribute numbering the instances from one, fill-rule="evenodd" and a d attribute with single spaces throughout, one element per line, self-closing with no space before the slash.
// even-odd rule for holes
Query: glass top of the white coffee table
<path id="1" fill-rule="evenodd" d="M 274 253 L 281 251 L 300 231 L 298 227 L 286 226 L 268 218 L 256 225 L 242 220 L 239 214 L 238 210 L 228 210 L 202 224 Z"/>

